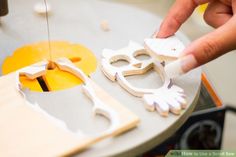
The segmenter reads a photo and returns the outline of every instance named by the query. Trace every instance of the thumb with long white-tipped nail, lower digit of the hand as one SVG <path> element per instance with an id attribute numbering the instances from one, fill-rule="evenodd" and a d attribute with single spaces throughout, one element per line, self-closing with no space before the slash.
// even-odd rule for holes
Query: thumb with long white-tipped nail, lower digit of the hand
<path id="1" fill-rule="evenodd" d="M 176 77 L 236 49 L 236 17 L 215 31 L 192 42 L 179 59 L 166 66 L 169 77 Z M 169 74 L 168 74 L 169 73 Z"/>

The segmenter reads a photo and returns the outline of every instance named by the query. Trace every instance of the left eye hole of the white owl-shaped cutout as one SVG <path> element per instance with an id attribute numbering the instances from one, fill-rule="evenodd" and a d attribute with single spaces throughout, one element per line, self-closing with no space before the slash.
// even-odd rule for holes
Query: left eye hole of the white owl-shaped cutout
<path id="1" fill-rule="evenodd" d="M 110 63 L 114 67 L 124 67 L 130 64 L 128 56 L 115 56 L 111 58 Z"/>

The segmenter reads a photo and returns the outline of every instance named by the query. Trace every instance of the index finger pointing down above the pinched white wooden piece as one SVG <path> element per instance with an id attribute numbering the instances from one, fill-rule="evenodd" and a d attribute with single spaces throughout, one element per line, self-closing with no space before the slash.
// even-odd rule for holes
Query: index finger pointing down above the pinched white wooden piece
<path id="1" fill-rule="evenodd" d="M 211 0 L 176 0 L 155 36 L 166 38 L 175 34 L 198 5 L 209 1 Z"/>

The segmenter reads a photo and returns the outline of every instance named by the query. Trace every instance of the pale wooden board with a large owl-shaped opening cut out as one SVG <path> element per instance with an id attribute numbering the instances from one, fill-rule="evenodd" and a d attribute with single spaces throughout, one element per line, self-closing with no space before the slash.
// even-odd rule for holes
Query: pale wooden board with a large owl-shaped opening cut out
<path id="1" fill-rule="evenodd" d="M 85 75 L 86 76 L 86 75 Z M 18 73 L 0 78 L 0 156 L 64 156 L 74 154 L 92 144 L 137 126 L 139 119 L 101 89 L 91 79 L 99 100 L 106 100 L 118 115 L 119 123 L 111 132 L 95 137 L 70 132 L 65 123 L 50 116 L 36 104 L 29 103 L 18 91 Z"/>

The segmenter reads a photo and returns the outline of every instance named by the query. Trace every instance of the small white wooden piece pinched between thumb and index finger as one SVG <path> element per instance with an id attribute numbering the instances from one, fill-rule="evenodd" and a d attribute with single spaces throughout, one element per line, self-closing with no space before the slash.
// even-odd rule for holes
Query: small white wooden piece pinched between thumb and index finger
<path id="1" fill-rule="evenodd" d="M 152 56 L 167 61 L 177 59 L 185 48 L 176 36 L 145 39 L 144 45 Z"/>

